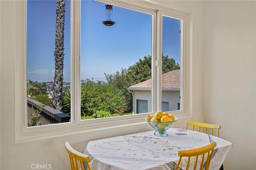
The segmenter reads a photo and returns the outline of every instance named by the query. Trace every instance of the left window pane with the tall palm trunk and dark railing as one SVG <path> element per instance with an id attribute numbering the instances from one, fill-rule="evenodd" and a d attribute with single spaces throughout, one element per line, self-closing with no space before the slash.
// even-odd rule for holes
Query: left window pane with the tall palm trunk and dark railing
<path id="1" fill-rule="evenodd" d="M 64 4 L 27 1 L 28 127 L 70 121 L 70 0 Z M 57 6 L 65 12 L 56 26 Z"/>

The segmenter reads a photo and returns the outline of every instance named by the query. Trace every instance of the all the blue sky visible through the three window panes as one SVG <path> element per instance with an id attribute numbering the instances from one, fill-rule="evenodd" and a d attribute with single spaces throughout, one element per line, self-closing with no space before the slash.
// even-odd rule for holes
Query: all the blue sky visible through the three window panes
<path id="1" fill-rule="evenodd" d="M 113 6 L 114 26 L 104 26 L 105 4 L 81 2 L 81 79 L 105 80 L 105 73 L 128 68 L 151 55 L 152 16 Z M 28 79 L 53 81 L 55 0 L 27 2 Z M 180 20 L 163 17 L 164 55 L 180 63 Z M 70 1 L 66 0 L 64 28 L 64 81 L 70 81 Z"/>

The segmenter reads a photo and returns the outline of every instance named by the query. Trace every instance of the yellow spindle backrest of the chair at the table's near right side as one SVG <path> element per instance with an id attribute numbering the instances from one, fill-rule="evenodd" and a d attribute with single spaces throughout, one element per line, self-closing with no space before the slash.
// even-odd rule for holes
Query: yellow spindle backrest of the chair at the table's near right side
<path id="1" fill-rule="evenodd" d="M 214 147 L 217 145 L 216 142 L 212 142 L 206 146 L 203 146 L 201 148 L 196 148 L 196 149 L 190 149 L 190 150 L 180 150 L 178 152 L 178 156 L 180 156 L 180 159 L 178 161 L 178 164 L 175 168 L 175 170 L 179 169 L 180 166 L 180 162 L 182 160 L 182 157 L 188 157 L 188 161 L 187 161 L 187 166 L 186 166 L 186 170 L 188 170 L 189 168 L 189 164 L 190 164 L 190 158 L 193 156 L 196 156 L 196 160 L 195 160 L 195 164 L 194 164 L 194 170 L 196 170 L 197 168 L 197 162 L 198 162 L 198 156 L 202 156 L 202 160 L 201 160 L 201 165 L 200 165 L 200 170 L 204 169 L 204 154 L 207 154 L 207 158 L 206 158 L 206 166 L 204 170 L 208 170 L 210 167 L 210 162 L 212 159 L 212 153 L 214 150 Z"/>

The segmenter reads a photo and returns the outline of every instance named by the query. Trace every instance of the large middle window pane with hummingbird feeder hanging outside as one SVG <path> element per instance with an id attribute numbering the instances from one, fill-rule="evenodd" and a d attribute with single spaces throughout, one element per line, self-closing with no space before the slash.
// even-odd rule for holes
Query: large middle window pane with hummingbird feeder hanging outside
<path id="1" fill-rule="evenodd" d="M 82 120 L 136 114 L 137 97 L 151 101 L 150 89 L 138 89 L 151 79 L 152 14 L 112 6 L 115 24 L 105 26 L 105 8 L 102 2 L 81 1 Z M 148 106 L 139 108 L 147 112 Z"/>

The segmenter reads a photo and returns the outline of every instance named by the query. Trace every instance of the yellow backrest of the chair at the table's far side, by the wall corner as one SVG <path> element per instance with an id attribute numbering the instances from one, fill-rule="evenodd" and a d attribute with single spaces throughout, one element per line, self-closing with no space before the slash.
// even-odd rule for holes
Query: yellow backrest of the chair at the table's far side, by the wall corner
<path id="1" fill-rule="evenodd" d="M 208 123 L 200 123 L 200 122 L 193 122 L 193 121 L 186 121 L 186 129 L 188 129 L 188 125 L 192 125 L 192 130 L 194 130 L 194 127 L 198 127 L 198 132 L 200 132 L 201 127 L 204 128 L 204 133 L 206 133 L 207 128 L 211 129 L 211 135 L 213 135 L 213 129 L 217 129 L 217 136 L 219 137 L 220 135 L 220 125 L 212 125 L 212 124 L 208 124 Z"/>

